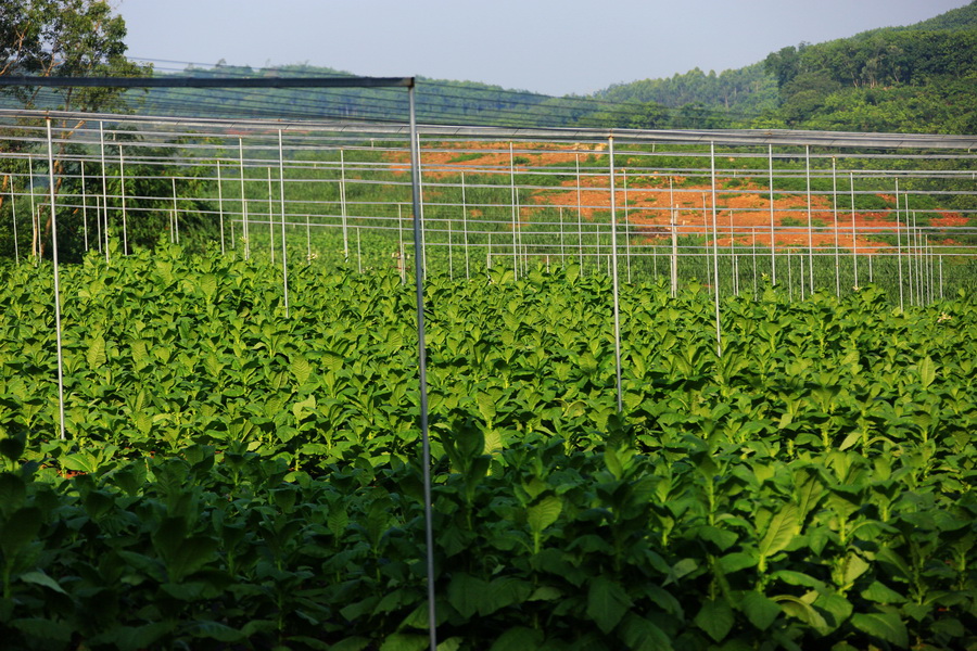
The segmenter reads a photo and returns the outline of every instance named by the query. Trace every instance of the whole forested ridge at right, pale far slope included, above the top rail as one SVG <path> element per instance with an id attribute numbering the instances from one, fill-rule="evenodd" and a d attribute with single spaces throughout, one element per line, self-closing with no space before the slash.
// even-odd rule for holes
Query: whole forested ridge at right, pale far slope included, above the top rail
<path id="1" fill-rule="evenodd" d="M 906 27 L 801 43 L 719 75 L 698 68 L 599 91 L 646 112 L 695 104 L 727 124 L 826 130 L 977 132 L 977 2 Z"/>

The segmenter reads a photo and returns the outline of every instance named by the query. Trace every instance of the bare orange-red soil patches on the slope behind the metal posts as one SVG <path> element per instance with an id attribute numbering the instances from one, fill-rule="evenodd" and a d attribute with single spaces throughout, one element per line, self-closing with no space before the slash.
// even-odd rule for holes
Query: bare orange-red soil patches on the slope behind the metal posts
<path id="1" fill-rule="evenodd" d="M 498 142 L 459 142 L 439 143 L 422 149 L 421 170 L 424 178 L 443 179 L 457 177 L 462 173 L 504 173 L 508 170 L 512 159 L 518 163 L 516 170 L 549 165 L 572 165 L 578 159 L 599 154 L 604 145 L 559 144 L 559 143 L 519 143 L 510 155 L 506 143 Z M 484 153 L 483 153 L 484 152 Z M 386 155 L 394 164 L 397 173 L 409 171 L 408 154 L 392 152 Z M 587 176 L 578 181 L 569 180 L 560 188 L 537 190 L 531 194 L 532 205 L 520 208 L 520 221 L 530 224 L 536 208 L 563 207 L 593 220 L 595 214 L 610 212 L 609 176 L 592 176 L 593 168 L 585 169 Z M 711 186 L 685 186 L 684 177 L 672 177 L 673 190 L 669 188 L 669 177 L 659 175 L 626 177 L 627 190 L 623 189 L 625 175 L 616 177 L 617 193 L 614 203 L 620 222 L 626 218 L 632 232 L 651 242 L 671 237 L 671 210 L 675 212 L 676 227 L 680 235 L 698 234 L 707 238 L 712 234 L 712 188 Z M 734 179 L 718 179 L 725 187 Z M 752 184 L 743 177 L 735 179 L 736 187 L 716 192 L 716 227 L 719 246 L 735 243 L 749 246 L 771 245 L 770 200 L 762 195 L 763 186 Z M 749 192 L 744 192 L 749 191 Z M 893 195 L 879 194 L 879 197 L 893 203 Z M 795 194 L 776 199 L 773 206 L 773 221 L 776 228 L 775 245 L 777 247 L 835 246 L 852 248 L 857 246 L 865 253 L 874 248 L 888 248 L 889 245 L 874 241 L 875 232 L 891 231 L 894 221 L 890 213 L 861 212 L 852 215 L 839 209 L 837 232 L 834 229 L 835 215 L 832 213 L 830 197 L 814 195 L 811 197 L 810 219 L 813 229 L 808 229 L 808 197 Z M 474 212 L 471 216 L 477 216 Z M 787 225 L 784 221 L 787 220 Z M 967 219 L 956 214 L 941 213 L 941 217 L 931 221 L 934 226 L 962 226 Z M 858 233 L 853 237 L 852 229 Z M 711 241 L 709 242 L 712 243 Z M 867 250 L 867 251 L 866 251 Z"/>

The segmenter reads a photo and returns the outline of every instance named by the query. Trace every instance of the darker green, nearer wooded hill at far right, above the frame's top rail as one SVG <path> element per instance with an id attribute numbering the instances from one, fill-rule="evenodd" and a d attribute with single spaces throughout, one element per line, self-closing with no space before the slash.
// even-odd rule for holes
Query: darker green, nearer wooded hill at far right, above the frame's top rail
<path id="1" fill-rule="evenodd" d="M 977 132 L 977 2 L 917 25 L 770 54 L 788 127 Z"/>

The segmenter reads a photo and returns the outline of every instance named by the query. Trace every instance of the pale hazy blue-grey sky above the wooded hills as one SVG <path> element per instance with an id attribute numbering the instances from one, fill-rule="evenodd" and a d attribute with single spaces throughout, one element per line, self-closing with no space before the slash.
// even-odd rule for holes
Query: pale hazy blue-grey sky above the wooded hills
<path id="1" fill-rule="evenodd" d="M 585 94 L 720 73 L 801 41 L 911 25 L 969 0 L 118 0 L 131 58 Z M 182 64 L 157 63 L 157 67 Z"/>

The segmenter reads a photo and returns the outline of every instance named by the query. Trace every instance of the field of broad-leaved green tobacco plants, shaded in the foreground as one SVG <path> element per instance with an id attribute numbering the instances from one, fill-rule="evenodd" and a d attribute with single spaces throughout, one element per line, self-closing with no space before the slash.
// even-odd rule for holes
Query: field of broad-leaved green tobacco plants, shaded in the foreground
<path id="1" fill-rule="evenodd" d="M 428 648 L 415 290 L 0 267 L 0 646 Z M 426 282 L 439 649 L 977 649 L 977 303 Z"/>

